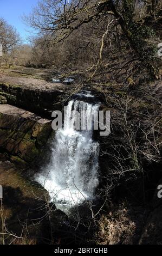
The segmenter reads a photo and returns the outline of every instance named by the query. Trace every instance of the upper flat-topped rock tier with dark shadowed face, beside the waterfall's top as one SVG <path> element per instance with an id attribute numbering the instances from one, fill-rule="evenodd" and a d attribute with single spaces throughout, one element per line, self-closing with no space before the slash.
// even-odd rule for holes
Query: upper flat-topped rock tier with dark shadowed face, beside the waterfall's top
<path id="1" fill-rule="evenodd" d="M 0 78 L 0 103 L 8 103 L 51 118 L 51 112 L 62 109 L 68 93 L 64 84 L 49 83 L 32 77 Z"/>

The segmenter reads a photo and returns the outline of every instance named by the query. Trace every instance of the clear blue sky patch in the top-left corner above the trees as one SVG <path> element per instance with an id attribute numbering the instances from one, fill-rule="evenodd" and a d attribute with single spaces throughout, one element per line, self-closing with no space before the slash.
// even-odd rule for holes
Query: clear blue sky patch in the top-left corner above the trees
<path id="1" fill-rule="evenodd" d="M 10 25 L 20 33 L 23 42 L 27 42 L 30 28 L 24 25 L 21 17 L 31 13 L 38 0 L 0 0 L 0 17 L 3 17 Z"/>

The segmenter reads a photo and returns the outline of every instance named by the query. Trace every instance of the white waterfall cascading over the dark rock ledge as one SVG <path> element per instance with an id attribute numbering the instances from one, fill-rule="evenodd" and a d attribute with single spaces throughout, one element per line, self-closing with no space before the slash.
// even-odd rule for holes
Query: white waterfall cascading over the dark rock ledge
<path id="1" fill-rule="evenodd" d="M 49 192 L 51 200 L 62 204 L 92 199 L 99 182 L 99 143 L 93 140 L 93 130 L 74 129 L 74 111 L 83 112 L 90 120 L 98 113 L 99 103 L 69 101 L 64 128 L 56 131 L 51 144 L 50 162 L 36 178 Z"/>

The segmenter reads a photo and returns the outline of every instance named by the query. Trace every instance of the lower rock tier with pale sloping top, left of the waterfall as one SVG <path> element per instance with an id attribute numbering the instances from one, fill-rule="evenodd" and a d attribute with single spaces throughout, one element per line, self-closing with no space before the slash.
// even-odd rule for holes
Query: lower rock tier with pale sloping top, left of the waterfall
<path id="1" fill-rule="evenodd" d="M 33 163 L 51 130 L 51 120 L 15 106 L 0 105 L 0 148 L 13 160 Z"/>

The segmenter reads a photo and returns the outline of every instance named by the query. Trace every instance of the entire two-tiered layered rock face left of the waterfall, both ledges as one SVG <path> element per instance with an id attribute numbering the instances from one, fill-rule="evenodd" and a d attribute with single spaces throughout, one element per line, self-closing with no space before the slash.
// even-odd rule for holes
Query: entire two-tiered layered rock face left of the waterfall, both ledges
<path id="1" fill-rule="evenodd" d="M 0 76 L 0 150 L 11 160 L 33 163 L 50 136 L 51 113 L 62 110 L 70 88 L 46 82 L 41 70 L 22 72 L 3 70 Z"/>

